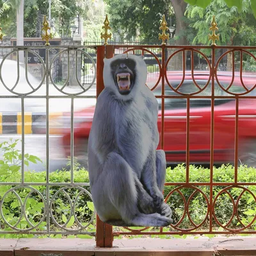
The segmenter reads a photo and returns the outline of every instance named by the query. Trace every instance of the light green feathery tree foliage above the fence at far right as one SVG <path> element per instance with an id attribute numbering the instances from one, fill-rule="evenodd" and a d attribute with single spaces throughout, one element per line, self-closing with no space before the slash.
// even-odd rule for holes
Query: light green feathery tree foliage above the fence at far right
<path id="1" fill-rule="evenodd" d="M 228 8 L 225 0 L 213 0 L 207 8 L 188 6 L 186 17 L 189 19 L 188 35 L 190 44 L 210 44 L 209 26 L 212 16 L 216 16 L 220 41 L 218 45 L 254 45 L 256 42 L 256 19 L 250 10 L 250 1 L 243 0 L 243 8 Z"/>

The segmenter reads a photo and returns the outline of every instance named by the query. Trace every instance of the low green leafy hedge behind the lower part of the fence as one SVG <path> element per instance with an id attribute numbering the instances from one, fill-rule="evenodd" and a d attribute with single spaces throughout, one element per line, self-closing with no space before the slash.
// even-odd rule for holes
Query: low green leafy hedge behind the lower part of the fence
<path id="1" fill-rule="evenodd" d="M 0 161 L 0 181 L 1 182 L 20 182 L 21 179 L 21 154 L 19 150 L 15 149 L 18 141 L 8 141 L 0 144 L 0 149 L 3 152 L 3 160 Z M 25 155 L 24 163 L 29 166 L 29 163 L 37 163 L 40 161 L 38 157 L 31 156 L 29 154 Z M 68 163 L 70 164 L 70 163 Z M 66 168 L 63 170 L 56 170 L 56 172 L 49 174 L 50 182 L 63 182 L 68 185 L 70 182 L 71 173 Z M 30 170 L 24 173 L 25 182 L 46 182 L 46 172 L 34 172 Z M 213 172 L 213 180 L 214 182 L 234 182 L 234 168 L 231 165 L 223 165 L 219 168 L 214 168 Z M 255 182 L 256 180 L 256 169 L 255 168 L 247 168 L 246 166 L 239 166 L 238 168 L 238 182 Z M 184 164 L 180 164 L 175 168 L 167 168 L 166 170 L 166 182 L 185 182 L 186 181 L 186 166 Z M 209 168 L 202 168 L 196 166 L 189 166 L 189 182 L 209 182 L 210 181 L 210 170 Z M 74 182 L 89 182 L 88 172 L 81 168 L 79 164 L 75 163 L 74 165 Z M 2 185 L 0 186 L 0 198 L 3 200 L 3 196 L 6 195 L 6 192 L 14 188 L 15 186 L 10 185 Z M 33 186 L 37 191 L 40 191 L 42 196 L 46 198 L 46 186 Z M 227 186 L 214 186 L 213 188 L 213 200 L 216 198 L 217 194 Z M 49 197 L 50 200 L 52 196 L 63 186 L 51 186 L 49 189 Z M 166 197 L 170 191 L 177 188 L 177 186 L 165 186 L 164 187 L 164 196 Z M 249 189 L 251 193 L 248 191 L 244 191 L 243 188 Z M 230 221 L 228 228 L 242 228 L 243 225 L 246 226 L 248 223 L 253 221 L 253 218 L 256 214 L 256 202 L 253 195 L 256 195 L 256 186 L 243 186 L 243 188 L 230 188 L 228 189 L 228 193 L 234 200 L 236 201 L 239 198 L 238 204 L 238 214 L 239 219 L 235 216 L 232 221 Z M 88 186 L 85 186 L 84 189 L 90 191 Z M 36 193 L 36 191 L 31 190 L 30 188 L 17 188 L 15 189 L 17 194 L 20 196 L 20 200 L 24 203 L 26 200 L 26 196 L 28 196 L 26 200 L 26 215 L 28 216 L 28 220 L 36 225 L 44 216 L 44 202 L 41 196 Z M 70 211 L 72 209 L 72 205 L 70 205 L 69 200 L 74 202 L 75 198 L 76 207 L 75 213 L 77 219 L 82 223 L 82 225 L 86 225 L 88 221 L 90 221 L 93 213 L 93 204 L 86 193 L 79 194 L 81 192 L 81 188 L 67 188 L 65 191 L 60 191 L 58 195 L 55 196 L 52 204 L 52 215 L 55 220 L 63 225 L 66 223 L 66 227 L 72 230 L 76 230 L 79 228 L 76 224 L 74 216 L 68 220 L 70 216 Z M 30 193 L 30 194 L 29 194 Z M 220 221 L 224 226 L 230 220 L 233 212 L 233 204 L 232 199 L 228 195 L 228 193 L 222 193 L 218 200 L 216 201 L 216 205 L 214 208 L 214 212 L 216 214 L 216 218 Z M 210 187 L 209 186 L 190 186 L 180 188 L 179 191 L 175 191 L 172 196 L 168 199 L 168 204 L 172 207 L 173 210 L 173 219 L 174 223 L 177 223 L 182 217 L 185 209 L 184 198 L 180 195 L 182 194 L 189 203 L 189 214 L 191 219 L 195 223 L 195 225 L 200 225 L 202 221 L 205 220 L 205 216 L 207 214 L 207 202 L 209 202 L 210 196 Z M 68 198 L 69 196 L 69 198 Z M 207 199 L 205 199 L 205 197 Z M 20 217 L 20 201 L 17 199 L 17 195 L 15 193 L 8 193 L 3 200 L 3 214 L 4 218 L 11 225 L 15 225 Z M 56 224 L 51 220 L 51 230 L 61 231 L 61 228 L 56 226 Z M 207 230 L 209 225 L 209 218 L 207 218 L 204 222 L 204 225 L 200 227 L 200 230 Z M 215 221 L 213 221 L 214 230 L 223 230 Z M 19 221 L 19 225 L 17 228 L 26 229 L 31 227 L 28 224 L 28 221 L 22 217 Z M 193 225 L 189 221 L 188 216 L 184 218 L 182 223 L 180 223 L 179 228 L 191 228 Z M 8 227 L 4 220 L 1 218 L 1 228 L 2 230 L 11 231 L 12 228 Z M 38 231 L 46 230 L 45 220 L 35 228 Z M 85 229 L 88 232 L 95 232 L 95 221 Z M 123 230 L 122 228 L 115 227 L 115 230 Z M 170 227 L 164 228 L 165 231 L 173 230 Z M 250 230 L 256 230 L 256 222 L 254 221 Z M 19 237 L 20 235 L 3 235 L 4 237 Z M 23 237 L 31 237 L 33 235 L 23 235 Z M 61 236 L 61 235 L 60 235 Z M 60 237 L 59 235 L 55 237 Z M 74 236 L 71 236 L 74 237 Z M 88 237 L 86 235 L 80 235 L 80 237 Z"/>

